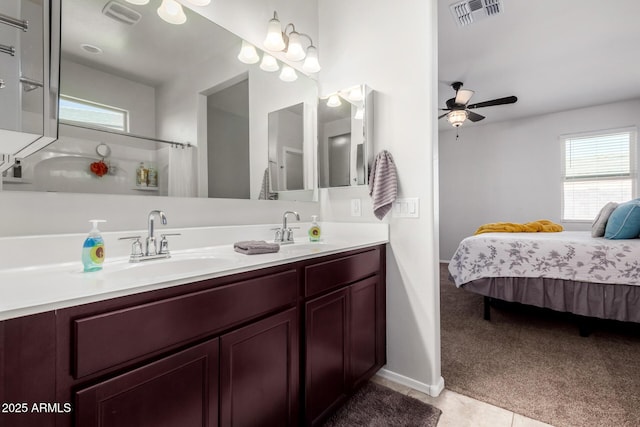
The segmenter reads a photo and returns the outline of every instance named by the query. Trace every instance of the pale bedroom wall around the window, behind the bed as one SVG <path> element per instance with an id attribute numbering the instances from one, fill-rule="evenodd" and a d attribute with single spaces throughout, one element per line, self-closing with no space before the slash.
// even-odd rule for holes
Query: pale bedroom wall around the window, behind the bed
<path id="1" fill-rule="evenodd" d="M 564 134 L 640 125 L 640 100 L 440 133 L 440 257 L 489 222 L 560 223 Z M 587 230 L 590 223 L 561 223 Z"/>

